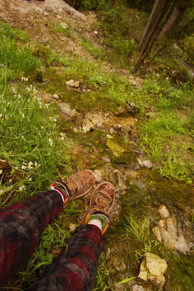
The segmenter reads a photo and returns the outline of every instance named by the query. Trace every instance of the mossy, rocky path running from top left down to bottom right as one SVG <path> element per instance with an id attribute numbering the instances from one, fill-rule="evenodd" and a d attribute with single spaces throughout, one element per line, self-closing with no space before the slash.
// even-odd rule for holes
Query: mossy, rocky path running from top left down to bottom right
<path id="1" fill-rule="evenodd" d="M 32 38 L 29 46 L 37 55 L 41 45 L 66 58 L 81 56 L 97 65 L 97 60 L 80 44 L 81 35 L 97 44 L 93 29 L 97 19 L 93 13 L 84 16 L 63 0 L 43 3 L 18 0 L 17 5 L 13 0 L 1 0 L 0 19 L 27 31 Z M 53 31 L 57 26 L 71 27 L 71 35 Z M 63 78 L 63 67 L 54 63 L 50 66 L 57 69 L 57 77 Z M 46 67 L 43 65 L 41 70 L 44 72 Z M 102 63 L 102 70 L 119 71 L 107 61 Z M 120 69 L 119 73 L 126 76 L 130 84 L 141 86 L 141 78 L 130 76 L 125 69 Z M 72 96 L 91 92 L 79 79 L 63 81 L 62 90 Z M 114 111 L 103 107 L 97 110 L 95 102 L 91 109 L 76 110 L 76 104 L 70 104 L 65 95 L 44 93 L 50 82 L 43 79 L 37 87 L 44 103 L 58 106 L 58 122 L 74 145 L 71 170 L 89 168 L 94 171 L 97 183 L 107 180 L 116 189 L 112 224 L 104 236 L 104 253 L 112 270 L 109 279 L 114 284 L 129 277 L 136 278 L 113 289 L 194 290 L 193 187 L 165 180 L 154 171 L 155 165 L 143 153 L 137 130 L 138 110 L 130 100 Z M 85 206 L 89 196 L 84 198 Z M 140 225 L 145 217 L 149 221 L 145 241 L 127 237 L 126 217 L 131 215 L 140 219 Z"/>

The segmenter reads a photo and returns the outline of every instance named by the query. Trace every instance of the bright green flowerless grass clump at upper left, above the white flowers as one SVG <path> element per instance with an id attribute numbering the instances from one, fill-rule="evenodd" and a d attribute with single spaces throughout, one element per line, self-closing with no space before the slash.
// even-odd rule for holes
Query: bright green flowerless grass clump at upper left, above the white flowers
<path id="1" fill-rule="evenodd" d="M 23 44 L 16 44 L 20 40 L 22 43 L 27 40 L 24 32 L 12 29 L 5 24 L 0 24 L 0 63 L 7 63 L 18 76 L 29 76 L 37 67 L 37 60 Z"/>

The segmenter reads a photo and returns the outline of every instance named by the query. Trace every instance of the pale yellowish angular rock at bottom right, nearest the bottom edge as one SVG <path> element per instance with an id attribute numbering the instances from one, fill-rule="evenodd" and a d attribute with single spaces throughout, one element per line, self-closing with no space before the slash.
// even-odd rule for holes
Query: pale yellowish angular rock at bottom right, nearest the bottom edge
<path id="1" fill-rule="evenodd" d="M 163 285 L 165 277 L 163 274 L 167 270 L 167 263 L 165 259 L 152 254 L 144 254 L 144 259 L 140 266 L 139 278 L 145 281 L 150 281 L 154 285 Z"/>

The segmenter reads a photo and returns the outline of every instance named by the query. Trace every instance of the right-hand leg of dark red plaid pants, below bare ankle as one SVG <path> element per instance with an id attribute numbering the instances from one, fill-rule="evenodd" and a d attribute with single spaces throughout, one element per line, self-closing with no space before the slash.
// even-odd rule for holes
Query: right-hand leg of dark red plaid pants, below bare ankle
<path id="1" fill-rule="evenodd" d="M 79 226 L 61 255 L 45 270 L 30 291 L 90 291 L 103 250 L 101 231 L 94 225 Z"/>

